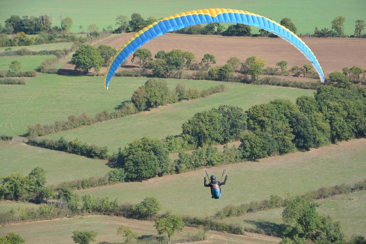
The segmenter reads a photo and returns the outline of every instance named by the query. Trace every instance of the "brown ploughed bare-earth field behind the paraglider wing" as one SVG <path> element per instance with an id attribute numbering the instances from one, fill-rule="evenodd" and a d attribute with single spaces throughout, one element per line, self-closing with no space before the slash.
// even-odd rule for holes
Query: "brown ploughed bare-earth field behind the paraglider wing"
<path id="1" fill-rule="evenodd" d="M 107 44 L 119 50 L 131 36 L 132 34 L 113 36 L 98 42 L 96 46 Z M 335 70 L 341 71 L 344 67 L 350 68 L 354 65 L 362 69 L 366 68 L 365 39 L 302 38 L 302 40 L 313 51 L 325 74 Z M 282 38 L 165 34 L 154 38 L 142 47 L 149 49 L 153 56 L 160 50 L 189 51 L 195 55 L 197 61 L 200 61 L 205 53 L 210 53 L 215 56 L 218 66 L 225 64 L 233 56 L 238 57 L 242 62 L 251 56 L 261 57 L 269 67 L 275 67 L 277 62 L 285 60 L 288 63 L 288 69 L 295 65 L 310 64 L 300 51 Z M 128 64 L 131 64 L 131 56 L 127 60 Z M 106 68 L 103 67 L 100 72 L 104 73 L 105 70 Z"/>

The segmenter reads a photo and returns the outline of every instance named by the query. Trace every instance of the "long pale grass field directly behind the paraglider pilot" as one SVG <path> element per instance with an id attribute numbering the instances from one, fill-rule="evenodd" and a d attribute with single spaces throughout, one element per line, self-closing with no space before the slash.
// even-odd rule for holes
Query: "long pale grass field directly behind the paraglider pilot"
<path id="1" fill-rule="evenodd" d="M 162 204 L 161 212 L 170 209 L 176 214 L 212 215 L 217 211 L 212 207 L 216 204 L 235 205 L 269 199 L 272 194 L 284 196 L 286 191 L 300 194 L 322 186 L 361 181 L 366 175 L 365 143 L 363 138 L 308 152 L 265 158 L 260 162 L 232 164 L 227 167 L 229 178 L 222 187 L 220 200 L 211 199 L 210 189 L 203 187 L 202 170 L 76 192 L 81 196 L 109 196 L 132 203 L 154 196 Z M 223 167 L 212 168 L 208 169 L 208 174 L 218 176 L 222 171 Z"/>

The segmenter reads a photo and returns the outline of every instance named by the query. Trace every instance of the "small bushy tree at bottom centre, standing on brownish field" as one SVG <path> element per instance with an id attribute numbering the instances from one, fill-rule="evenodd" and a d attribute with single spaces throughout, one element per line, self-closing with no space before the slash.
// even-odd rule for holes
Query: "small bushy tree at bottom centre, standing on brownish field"
<path id="1" fill-rule="evenodd" d="M 180 232 L 183 230 L 184 222 L 179 216 L 172 215 L 167 218 L 158 219 L 157 221 L 155 221 L 154 226 L 159 236 L 161 236 L 164 232 L 168 234 L 168 243 L 170 243 L 174 232 Z"/>

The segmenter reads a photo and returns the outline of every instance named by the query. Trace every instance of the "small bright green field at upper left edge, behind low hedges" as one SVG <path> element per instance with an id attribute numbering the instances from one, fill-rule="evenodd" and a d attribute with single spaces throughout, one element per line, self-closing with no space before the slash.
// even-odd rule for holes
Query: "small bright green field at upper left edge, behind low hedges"
<path id="1" fill-rule="evenodd" d="M 40 64 L 45 59 L 52 59 L 51 56 L 33 56 L 33 57 L 10 57 L 0 58 L 0 70 L 9 70 L 9 64 L 14 60 L 18 60 L 22 68 L 20 71 L 38 70 Z M 3 86 L 5 87 L 5 86 Z"/>

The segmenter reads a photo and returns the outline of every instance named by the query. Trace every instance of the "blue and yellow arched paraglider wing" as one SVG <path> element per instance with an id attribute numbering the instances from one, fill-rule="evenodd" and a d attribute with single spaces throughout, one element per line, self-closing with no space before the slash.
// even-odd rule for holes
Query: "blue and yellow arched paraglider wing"
<path id="1" fill-rule="evenodd" d="M 113 56 L 111 62 L 109 63 L 108 69 L 104 75 L 105 89 L 108 89 L 109 81 L 123 61 L 146 42 L 167 32 L 182 29 L 191 25 L 212 22 L 229 22 L 251 25 L 276 34 L 277 36 L 290 42 L 301 53 L 303 53 L 303 55 L 306 56 L 311 64 L 313 64 L 314 69 L 319 74 L 320 80 L 324 82 L 323 71 L 314 53 L 311 52 L 310 48 L 305 44 L 305 42 L 303 42 L 298 36 L 296 36 L 286 27 L 268 18 L 247 11 L 229 8 L 210 8 L 188 11 L 163 18 L 151 25 L 146 26 L 136 33 L 130 38 L 130 40 L 123 44 L 123 46 L 119 49 L 116 55 Z"/>

